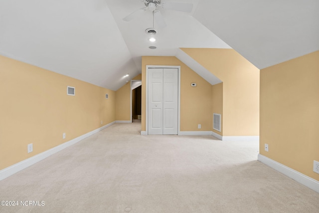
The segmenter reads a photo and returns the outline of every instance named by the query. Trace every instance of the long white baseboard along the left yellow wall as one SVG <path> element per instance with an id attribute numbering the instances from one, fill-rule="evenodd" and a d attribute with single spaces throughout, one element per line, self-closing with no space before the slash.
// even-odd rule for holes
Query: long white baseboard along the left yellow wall
<path id="1" fill-rule="evenodd" d="M 97 133 L 97 132 L 100 132 L 101 130 L 104 130 L 105 128 L 107 128 L 107 127 L 109 127 L 109 126 L 111 126 L 113 124 L 115 124 L 115 121 L 112 122 L 112 123 L 109 123 L 107 125 L 104 125 L 103 127 L 100 127 L 100 128 L 98 128 L 96 130 L 88 132 L 88 133 L 86 133 L 84 135 L 81 135 L 81 136 L 79 136 L 77 138 L 74 138 L 74 139 L 72 139 L 72 140 L 70 140 L 68 142 L 65 142 L 65 143 L 60 144 L 60 145 L 58 145 L 56 147 L 53 147 L 53 148 L 51 148 L 49 150 L 46 150 L 46 151 L 44 151 L 42 153 L 39 153 L 39 154 L 37 154 L 35 156 L 32 156 L 32 157 L 30 157 L 28 159 L 20 161 L 20 162 L 14 164 L 12 166 L 9 166 L 9 167 L 7 167 L 7 168 L 5 168 L 3 170 L 0 170 L 0 181 L 5 179 L 5 178 L 7 178 L 7 177 L 9 177 L 9 176 L 11 176 L 11 175 L 13 175 L 13 174 L 15 174 L 15 173 L 17 173 L 17 172 L 19 172 L 19 171 L 21 171 L 21 170 L 23 170 L 23 169 L 25 169 L 25 168 L 27 168 L 27 167 L 29 167 L 29 166 L 32 166 L 33 164 L 35 164 L 35 163 L 37 163 L 39 161 L 42 161 L 43 159 L 45 159 L 45 158 L 57 153 L 57 152 L 65 149 L 65 148 L 67 148 L 67 147 L 69 147 L 69 146 L 71 146 L 71 145 L 73 145 L 73 144 L 75 144 L 75 143 L 77 143 L 77 142 L 79 142 L 79 141 L 81 141 L 81 140 L 83 140 L 83 139 L 85 139 L 85 138 Z"/>

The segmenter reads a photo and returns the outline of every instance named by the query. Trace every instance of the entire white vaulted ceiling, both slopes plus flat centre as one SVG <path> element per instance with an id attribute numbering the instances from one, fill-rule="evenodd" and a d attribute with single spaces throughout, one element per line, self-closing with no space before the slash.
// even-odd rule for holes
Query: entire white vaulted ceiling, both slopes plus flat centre
<path id="1" fill-rule="evenodd" d="M 165 1 L 194 7 L 160 9 L 167 26 L 155 23 L 151 43 L 151 11 L 123 20 L 140 0 L 0 0 L 0 54 L 117 90 L 141 73 L 141 56 L 180 47 L 234 48 L 258 68 L 319 50 L 319 0 Z"/>

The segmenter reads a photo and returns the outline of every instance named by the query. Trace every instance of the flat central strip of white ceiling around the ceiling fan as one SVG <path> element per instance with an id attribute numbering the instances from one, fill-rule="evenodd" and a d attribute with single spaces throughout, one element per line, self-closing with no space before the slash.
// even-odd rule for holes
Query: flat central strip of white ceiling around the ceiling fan
<path id="1" fill-rule="evenodd" d="M 186 13 L 159 8 L 167 26 L 159 27 L 155 21 L 157 34 L 154 37 L 157 41 L 152 43 L 148 40 L 151 36 L 145 32 L 147 28 L 153 27 L 151 11 L 147 10 L 129 22 L 123 20 L 133 11 L 144 7 L 144 2 L 106 0 L 139 70 L 142 56 L 145 55 L 175 56 L 180 47 L 231 48 L 192 16 L 198 0 L 162 0 L 164 1 L 193 3 L 193 10 Z M 156 46 L 157 49 L 150 49 L 149 46 Z"/>

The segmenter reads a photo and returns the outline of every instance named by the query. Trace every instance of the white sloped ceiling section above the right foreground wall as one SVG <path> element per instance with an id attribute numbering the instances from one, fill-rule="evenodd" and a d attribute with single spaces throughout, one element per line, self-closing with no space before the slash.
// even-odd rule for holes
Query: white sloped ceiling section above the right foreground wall
<path id="1" fill-rule="evenodd" d="M 319 0 L 200 0 L 193 16 L 259 69 L 319 50 Z"/>

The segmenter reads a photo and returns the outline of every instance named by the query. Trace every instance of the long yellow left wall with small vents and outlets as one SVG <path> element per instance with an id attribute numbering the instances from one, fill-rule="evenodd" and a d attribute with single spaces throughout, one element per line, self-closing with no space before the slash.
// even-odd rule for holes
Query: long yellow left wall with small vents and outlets
<path id="1" fill-rule="evenodd" d="M 114 98 L 112 90 L 0 56 L 0 170 L 115 121 Z"/>

